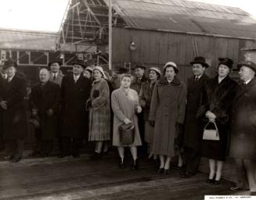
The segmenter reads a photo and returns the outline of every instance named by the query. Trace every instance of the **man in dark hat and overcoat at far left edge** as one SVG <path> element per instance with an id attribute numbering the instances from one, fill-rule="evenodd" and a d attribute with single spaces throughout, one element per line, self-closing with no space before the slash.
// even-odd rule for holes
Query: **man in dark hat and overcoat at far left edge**
<path id="1" fill-rule="evenodd" d="M 0 94 L 2 109 L 2 130 L 6 152 L 13 162 L 19 162 L 23 152 L 23 142 L 27 134 L 26 107 L 24 97 L 27 95 L 26 80 L 16 76 L 16 63 L 6 60 L 4 69 L 7 79 L 3 81 Z"/>

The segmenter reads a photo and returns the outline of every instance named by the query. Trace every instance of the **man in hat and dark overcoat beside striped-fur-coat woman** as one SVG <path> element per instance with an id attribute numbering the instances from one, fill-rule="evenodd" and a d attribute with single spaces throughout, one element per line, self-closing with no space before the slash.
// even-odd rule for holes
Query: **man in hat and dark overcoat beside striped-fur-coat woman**
<path id="1" fill-rule="evenodd" d="M 68 155 L 79 157 L 81 141 L 85 131 L 88 131 L 88 113 L 85 111 L 89 98 L 91 82 L 81 73 L 85 69 L 82 60 L 73 63 L 73 73 L 63 77 L 61 84 L 61 154 L 59 158 Z"/>

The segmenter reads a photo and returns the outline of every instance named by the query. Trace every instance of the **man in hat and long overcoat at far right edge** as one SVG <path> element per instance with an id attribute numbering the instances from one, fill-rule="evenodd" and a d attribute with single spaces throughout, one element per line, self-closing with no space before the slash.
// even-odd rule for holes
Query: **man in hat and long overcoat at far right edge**
<path id="1" fill-rule="evenodd" d="M 238 64 L 240 85 L 233 102 L 229 156 L 236 163 L 236 187 L 256 195 L 256 64 L 251 61 Z"/>

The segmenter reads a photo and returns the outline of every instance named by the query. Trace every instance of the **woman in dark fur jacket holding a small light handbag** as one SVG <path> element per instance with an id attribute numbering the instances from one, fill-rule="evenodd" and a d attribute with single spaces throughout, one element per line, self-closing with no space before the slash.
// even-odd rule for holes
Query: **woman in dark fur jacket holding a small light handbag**
<path id="1" fill-rule="evenodd" d="M 231 80 L 229 72 L 232 59 L 219 59 L 218 76 L 207 80 L 203 91 L 203 102 L 198 117 L 207 122 L 216 123 L 219 141 L 203 140 L 201 155 L 209 159 L 210 174 L 207 183 L 219 184 L 222 166 L 225 161 L 229 133 L 230 102 L 236 95 L 236 81 Z M 217 169 L 215 171 L 215 166 Z"/>

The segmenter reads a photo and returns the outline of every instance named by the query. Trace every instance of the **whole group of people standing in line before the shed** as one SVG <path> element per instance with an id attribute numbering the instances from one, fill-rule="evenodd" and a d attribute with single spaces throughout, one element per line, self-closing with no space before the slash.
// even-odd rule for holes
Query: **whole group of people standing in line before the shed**
<path id="1" fill-rule="evenodd" d="M 110 80 L 101 66 L 73 63 L 73 73 L 63 76 L 61 63 L 49 62 L 39 71 L 40 83 L 29 98 L 34 124 L 34 154 L 48 156 L 52 141 L 59 138 L 59 158 L 79 157 L 81 141 L 95 141 L 93 158 L 107 153 L 109 141 L 117 147 L 119 166 L 125 167 L 124 148 L 130 148 L 132 170 L 138 170 L 137 147 L 147 144 L 148 159 L 159 159 L 157 173 L 168 174 L 171 158 L 178 155 L 182 178 L 197 173 L 200 158 L 209 159 L 207 183 L 220 184 L 227 156 L 234 158 L 237 185 L 233 191 L 250 188 L 256 193 L 256 64 L 238 64 L 240 81 L 229 73 L 233 60 L 220 58 L 217 76 L 208 77 L 204 57 L 190 62 L 193 77 L 187 83 L 178 79 L 178 66 L 167 62 L 164 69 L 136 65 L 132 77 L 126 69 Z M 26 112 L 26 80 L 16 73 L 16 63 L 7 60 L 7 76 L 0 80 L 1 132 L 7 159 L 22 157 Z M 122 142 L 120 127 L 132 124 L 130 144 Z M 216 129 L 218 139 L 203 139 L 204 130 Z M 139 148 L 142 152 L 143 148 Z M 249 184 L 249 187 L 248 187 Z"/>

